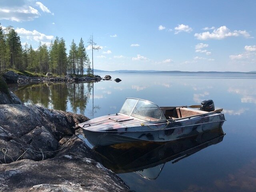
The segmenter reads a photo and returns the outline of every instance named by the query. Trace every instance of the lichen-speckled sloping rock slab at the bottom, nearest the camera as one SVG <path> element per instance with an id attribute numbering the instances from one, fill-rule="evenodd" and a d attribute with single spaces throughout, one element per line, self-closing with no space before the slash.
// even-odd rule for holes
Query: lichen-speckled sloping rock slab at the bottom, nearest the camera
<path id="1" fill-rule="evenodd" d="M 92 150 L 81 139 L 74 136 L 62 140 L 54 158 L 0 164 L 0 191 L 129 191 L 114 172 L 91 158 Z"/>

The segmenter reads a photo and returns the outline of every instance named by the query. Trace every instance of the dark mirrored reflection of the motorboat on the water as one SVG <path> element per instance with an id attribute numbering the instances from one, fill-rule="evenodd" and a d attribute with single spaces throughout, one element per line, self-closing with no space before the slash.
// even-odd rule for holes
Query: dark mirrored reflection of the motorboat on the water
<path id="1" fill-rule="evenodd" d="M 116 174 L 136 172 L 156 179 L 166 162 L 176 163 L 208 146 L 223 140 L 221 126 L 215 129 L 170 142 L 133 142 L 94 147 L 99 161 Z"/>

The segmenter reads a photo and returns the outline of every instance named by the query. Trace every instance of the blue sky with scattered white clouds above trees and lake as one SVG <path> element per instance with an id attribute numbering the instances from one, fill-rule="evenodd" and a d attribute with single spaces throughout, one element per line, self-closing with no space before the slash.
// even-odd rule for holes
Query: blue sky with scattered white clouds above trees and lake
<path id="1" fill-rule="evenodd" d="M 99 70 L 256 71 L 255 0 L 0 0 L 2 28 L 67 53 L 88 40 Z"/>

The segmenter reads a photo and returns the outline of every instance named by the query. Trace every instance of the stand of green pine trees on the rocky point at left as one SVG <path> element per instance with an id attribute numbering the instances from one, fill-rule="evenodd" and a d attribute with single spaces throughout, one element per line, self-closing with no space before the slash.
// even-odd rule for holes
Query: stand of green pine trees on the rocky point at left
<path id="1" fill-rule="evenodd" d="M 66 42 L 56 37 L 50 46 L 39 42 L 35 50 L 31 44 L 21 45 L 20 37 L 12 26 L 2 29 L 0 25 L 0 72 L 8 68 L 27 70 L 29 72 L 45 74 L 52 72 L 65 74 L 92 74 L 90 59 L 86 53 L 82 38 L 78 46 L 72 40 L 69 54 L 66 53 Z"/>

